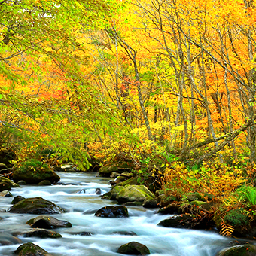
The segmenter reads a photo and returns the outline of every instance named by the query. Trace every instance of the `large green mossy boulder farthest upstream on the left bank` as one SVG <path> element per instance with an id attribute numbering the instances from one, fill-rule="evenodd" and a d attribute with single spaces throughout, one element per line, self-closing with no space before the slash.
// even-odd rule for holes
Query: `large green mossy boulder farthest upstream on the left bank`
<path id="1" fill-rule="evenodd" d="M 38 184 L 44 180 L 56 183 L 60 180 L 50 166 L 38 160 L 27 160 L 20 166 L 14 166 L 13 179 L 14 182 L 26 181 L 27 184 Z"/>

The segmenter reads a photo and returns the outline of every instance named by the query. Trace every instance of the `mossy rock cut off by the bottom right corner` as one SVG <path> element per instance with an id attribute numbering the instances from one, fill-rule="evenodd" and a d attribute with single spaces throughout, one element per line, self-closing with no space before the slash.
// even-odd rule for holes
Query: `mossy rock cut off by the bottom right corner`
<path id="1" fill-rule="evenodd" d="M 236 245 L 220 251 L 217 256 L 256 256 L 256 245 Z"/>

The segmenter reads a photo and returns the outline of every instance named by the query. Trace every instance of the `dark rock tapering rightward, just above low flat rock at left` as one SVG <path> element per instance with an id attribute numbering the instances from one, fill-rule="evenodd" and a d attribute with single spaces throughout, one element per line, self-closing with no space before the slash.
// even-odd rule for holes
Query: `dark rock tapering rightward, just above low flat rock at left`
<path id="1" fill-rule="evenodd" d="M 58 227 L 72 227 L 69 221 L 61 221 L 52 216 L 41 215 L 26 222 L 31 227 L 53 229 Z"/>

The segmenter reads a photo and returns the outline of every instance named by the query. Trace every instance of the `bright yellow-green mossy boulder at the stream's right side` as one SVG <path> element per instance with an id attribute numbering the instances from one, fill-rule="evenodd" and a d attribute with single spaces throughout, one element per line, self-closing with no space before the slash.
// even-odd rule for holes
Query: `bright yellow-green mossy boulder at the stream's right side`
<path id="1" fill-rule="evenodd" d="M 118 203 L 144 202 L 145 200 L 155 199 L 154 194 L 143 185 L 126 185 L 117 194 Z"/>

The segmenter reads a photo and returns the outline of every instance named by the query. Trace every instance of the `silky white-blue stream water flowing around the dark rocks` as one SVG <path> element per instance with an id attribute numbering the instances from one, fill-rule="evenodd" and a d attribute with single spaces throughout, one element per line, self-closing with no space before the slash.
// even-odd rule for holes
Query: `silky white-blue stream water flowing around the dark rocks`
<path id="1" fill-rule="evenodd" d="M 95 174 L 59 172 L 63 184 L 52 186 L 21 186 L 13 188 L 13 196 L 43 197 L 67 209 L 69 212 L 52 215 L 72 223 L 71 228 L 55 229 L 60 239 L 25 238 L 22 242 L 33 242 L 53 255 L 69 256 L 114 256 L 117 248 L 126 242 L 141 242 L 153 256 L 215 256 L 222 248 L 228 247 L 232 239 L 217 232 L 184 230 L 159 227 L 157 224 L 169 215 L 157 215 L 157 209 L 142 206 L 128 206 L 129 218 L 99 218 L 94 216 L 97 209 L 114 205 L 116 202 L 102 200 L 95 190 L 102 194 L 110 190 L 109 178 L 95 177 Z M 83 190 L 83 193 L 79 191 Z M 11 197 L 0 200 L 0 210 L 11 206 Z M 16 233 L 29 230 L 26 221 L 36 215 L 1 212 L 1 233 Z M 117 231 L 133 231 L 137 236 L 114 234 Z M 82 232 L 92 236 L 81 236 Z M 0 233 L 0 234 L 1 234 Z M 12 255 L 20 245 L 0 246 L 0 255 Z"/>

